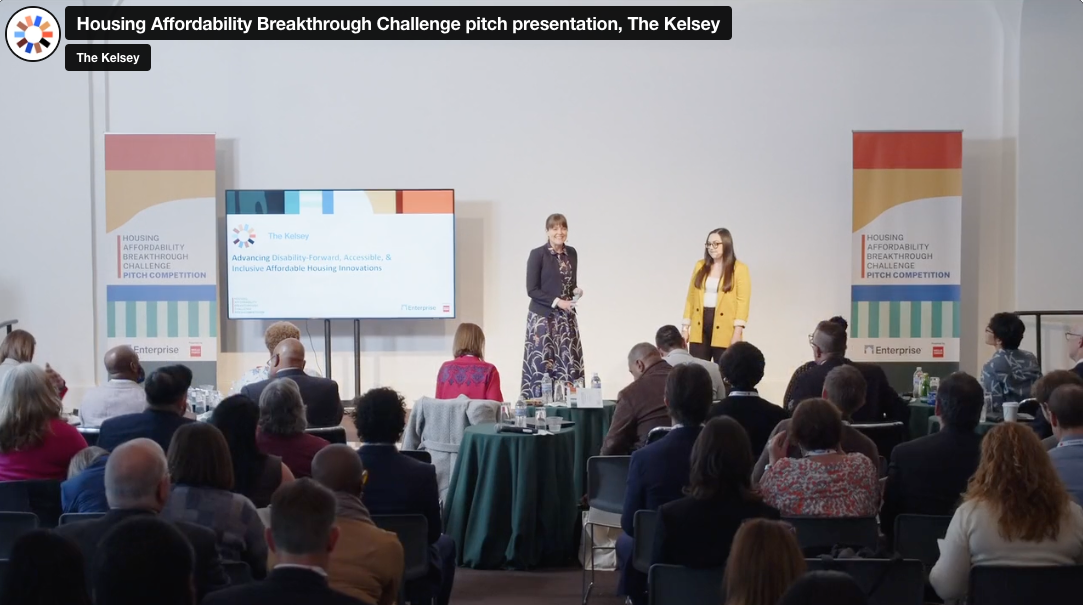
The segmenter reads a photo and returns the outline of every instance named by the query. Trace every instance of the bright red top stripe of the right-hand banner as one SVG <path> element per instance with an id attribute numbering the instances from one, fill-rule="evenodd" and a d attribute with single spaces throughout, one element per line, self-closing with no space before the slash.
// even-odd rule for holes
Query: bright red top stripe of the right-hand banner
<path id="1" fill-rule="evenodd" d="M 854 132 L 853 169 L 961 169 L 962 132 Z"/>

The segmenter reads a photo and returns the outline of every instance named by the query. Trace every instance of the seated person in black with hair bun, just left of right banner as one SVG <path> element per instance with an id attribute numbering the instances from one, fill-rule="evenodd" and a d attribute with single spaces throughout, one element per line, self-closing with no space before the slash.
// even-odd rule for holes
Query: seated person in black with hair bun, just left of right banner
<path id="1" fill-rule="evenodd" d="M 808 398 L 820 397 L 827 373 L 843 365 L 858 368 L 865 378 L 865 405 L 853 412 L 853 422 L 910 421 L 910 407 L 887 380 L 884 369 L 873 364 L 856 364 L 846 358 L 846 320 L 840 317 L 820 321 L 809 336 L 813 366 L 794 372 L 786 387 L 785 406 L 793 409 Z M 800 370 L 800 369 L 799 369 Z"/>

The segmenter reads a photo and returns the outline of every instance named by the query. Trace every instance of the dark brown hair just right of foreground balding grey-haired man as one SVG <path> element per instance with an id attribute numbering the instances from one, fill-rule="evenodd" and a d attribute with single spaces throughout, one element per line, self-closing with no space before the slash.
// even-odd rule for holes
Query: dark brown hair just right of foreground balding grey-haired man
<path id="1" fill-rule="evenodd" d="M 230 446 L 211 424 L 191 422 L 178 429 L 167 459 L 173 485 L 233 490 Z"/>

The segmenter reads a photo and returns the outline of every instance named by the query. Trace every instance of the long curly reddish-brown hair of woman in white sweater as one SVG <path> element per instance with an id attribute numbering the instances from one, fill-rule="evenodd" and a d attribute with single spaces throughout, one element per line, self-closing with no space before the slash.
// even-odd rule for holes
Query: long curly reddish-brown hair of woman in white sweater
<path id="1" fill-rule="evenodd" d="M 1068 490 L 1034 431 L 1003 422 L 981 439 L 981 462 L 964 501 L 991 507 L 1005 540 L 1055 539 L 1069 507 Z"/>

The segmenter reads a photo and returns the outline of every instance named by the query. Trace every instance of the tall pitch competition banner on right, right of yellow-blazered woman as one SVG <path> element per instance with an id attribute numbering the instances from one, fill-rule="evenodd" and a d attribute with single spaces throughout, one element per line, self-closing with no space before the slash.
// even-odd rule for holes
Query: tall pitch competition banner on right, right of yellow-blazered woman
<path id="1" fill-rule="evenodd" d="M 848 354 L 958 361 L 962 132 L 854 132 Z"/>

